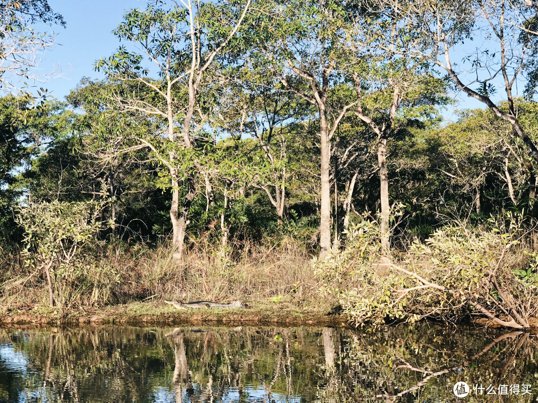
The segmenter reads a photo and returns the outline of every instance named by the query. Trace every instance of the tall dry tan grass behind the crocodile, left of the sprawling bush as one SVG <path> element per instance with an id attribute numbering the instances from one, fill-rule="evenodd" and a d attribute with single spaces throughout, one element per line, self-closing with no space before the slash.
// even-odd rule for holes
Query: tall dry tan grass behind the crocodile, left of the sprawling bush
<path id="1" fill-rule="evenodd" d="M 57 281 L 63 308 L 106 306 L 146 299 L 231 300 L 313 303 L 316 279 L 311 256 L 293 239 L 278 249 L 249 241 L 228 246 L 201 239 L 190 242 L 185 259 L 174 262 L 166 245 L 101 247 L 84 256 L 76 277 Z M 7 262 L 10 262 L 9 264 Z M 16 256 L 3 260 L 0 314 L 48 303 L 46 280 Z"/>

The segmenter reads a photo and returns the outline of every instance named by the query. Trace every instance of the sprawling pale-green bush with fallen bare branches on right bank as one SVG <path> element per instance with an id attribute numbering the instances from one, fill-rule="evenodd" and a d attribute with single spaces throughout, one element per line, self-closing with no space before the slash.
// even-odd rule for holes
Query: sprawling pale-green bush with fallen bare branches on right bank
<path id="1" fill-rule="evenodd" d="M 521 240 L 528 232 L 521 216 L 508 214 L 506 221 L 491 220 L 487 227 L 445 225 L 426 242 L 415 240 L 398 264 L 380 256 L 376 224 L 362 226 L 350 232 L 345 252 L 315 262 L 320 291 L 338 299 L 357 326 L 471 315 L 529 327 L 538 277 L 534 252 L 523 253 Z"/>

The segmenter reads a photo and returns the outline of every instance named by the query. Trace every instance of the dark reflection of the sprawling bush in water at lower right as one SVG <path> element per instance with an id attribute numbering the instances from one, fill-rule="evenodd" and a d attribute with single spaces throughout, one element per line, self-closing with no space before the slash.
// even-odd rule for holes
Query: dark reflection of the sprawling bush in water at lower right
<path id="1" fill-rule="evenodd" d="M 533 359 L 529 353 L 534 351 L 527 345 L 528 333 L 503 334 L 485 345 L 485 340 L 461 335 L 451 337 L 448 332 L 441 332 L 444 333 L 441 338 L 440 332 L 433 329 L 409 334 L 406 338 L 401 337 L 400 331 L 392 333 L 389 337 L 372 335 L 366 340 L 353 338 L 349 350 L 352 367 L 348 371 L 359 374 L 353 383 L 356 399 L 369 397 L 371 401 L 397 402 L 435 397 L 434 401 L 452 401 L 455 399 L 452 386 L 462 380 L 471 387 L 533 384 L 533 374 L 525 369 L 527 359 Z M 366 372 L 359 369 L 363 366 L 368 368 Z M 511 370 L 507 371 L 509 367 Z M 350 378 L 343 376 L 342 383 L 338 383 L 348 398 L 352 390 L 349 382 Z M 484 398 L 487 397 L 471 391 L 465 399 L 483 401 Z M 519 402 L 531 401 L 533 397 L 527 394 L 495 398 Z"/>

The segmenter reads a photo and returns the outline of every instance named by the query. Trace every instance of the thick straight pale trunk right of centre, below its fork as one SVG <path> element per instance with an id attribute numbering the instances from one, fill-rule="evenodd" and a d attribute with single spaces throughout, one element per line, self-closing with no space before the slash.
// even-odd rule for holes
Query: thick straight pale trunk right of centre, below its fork
<path id="1" fill-rule="evenodd" d="M 327 257 L 331 250 L 331 188 L 329 182 L 330 144 L 329 126 L 325 106 L 318 103 L 320 110 L 320 137 L 321 137 L 321 220 L 320 220 L 320 259 Z"/>

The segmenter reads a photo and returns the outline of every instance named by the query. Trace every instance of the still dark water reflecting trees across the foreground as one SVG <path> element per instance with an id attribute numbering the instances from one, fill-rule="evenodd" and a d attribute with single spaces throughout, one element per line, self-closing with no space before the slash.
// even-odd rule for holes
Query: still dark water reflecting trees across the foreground
<path id="1" fill-rule="evenodd" d="M 537 347 L 427 323 L 0 328 L 0 402 L 534 402 Z"/>

